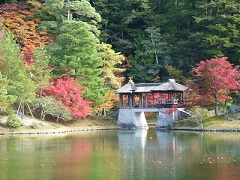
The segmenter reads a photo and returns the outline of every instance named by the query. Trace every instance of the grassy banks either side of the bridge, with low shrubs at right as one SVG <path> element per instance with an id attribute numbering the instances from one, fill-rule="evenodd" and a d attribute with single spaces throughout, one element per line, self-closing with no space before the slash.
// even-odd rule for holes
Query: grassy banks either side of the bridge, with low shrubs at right
<path id="1" fill-rule="evenodd" d="M 156 123 L 156 113 L 149 113 L 146 115 L 149 125 Z M 240 117 L 240 115 L 239 115 Z M 117 121 L 108 116 L 91 117 L 76 121 L 59 121 L 56 119 L 40 120 L 25 116 L 21 121 L 24 123 L 19 128 L 10 128 L 6 124 L 6 116 L 0 116 L 0 135 L 8 133 L 58 133 L 58 132 L 75 132 L 85 130 L 101 130 L 101 129 L 117 129 Z M 202 123 L 202 124 L 201 124 Z M 196 118 L 186 118 L 184 120 L 174 122 L 169 129 L 185 129 L 185 130 L 199 130 L 201 126 L 204 130 L 239 130 L 240 120 L 233 120 L 233 118 L 223 116 L 206 116 L 200 122 Z"/>

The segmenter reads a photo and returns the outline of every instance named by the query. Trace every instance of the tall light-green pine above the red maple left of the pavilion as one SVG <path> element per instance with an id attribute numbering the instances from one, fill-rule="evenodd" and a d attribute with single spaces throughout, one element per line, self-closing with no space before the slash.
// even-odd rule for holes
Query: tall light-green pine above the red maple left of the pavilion
<path id="1" fill-rule="evenodd" d="M 73 77 L 87 87 L 83 93 L 85 98 L 94 105 L 101 104 L 101 97 L 105 95 L 101 77 L 103 62 L 98 54 L 100 31 L 97 23 L 101 17 L 86 0 L 67 1 L 57 9 L 63 19 L 57 21 L 60 28 L 56 41 L 47 46 L 53 73 Z"/>

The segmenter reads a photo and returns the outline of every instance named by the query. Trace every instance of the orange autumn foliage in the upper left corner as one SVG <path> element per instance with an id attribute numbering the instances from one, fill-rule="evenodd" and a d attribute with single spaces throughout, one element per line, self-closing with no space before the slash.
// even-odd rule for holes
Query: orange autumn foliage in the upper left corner
<path id="1" fill-rule="evenodd" d="M 4 26 L 10 30 L 21 45 L 24 53 L 23 60 L 31 63 L 33 51 L 49 43 L 49 37 L 46 32 L 37 32 L 41 20 L 34 18 L 37 12 L 36 8 L 30 4 L 4 4 L 0 8 L 0 15 L 5 19 Z"/>

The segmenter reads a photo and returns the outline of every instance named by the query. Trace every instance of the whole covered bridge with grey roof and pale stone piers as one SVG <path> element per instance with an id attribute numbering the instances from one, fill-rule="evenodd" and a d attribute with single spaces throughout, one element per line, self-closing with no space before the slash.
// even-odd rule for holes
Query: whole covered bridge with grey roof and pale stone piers
<path id="1" fill-rule="evenodd" d="M 119 94 L 118 126 L 123 129 L 148 128 L 144 112 L 157 112 L 156 128 L 171 126 L 184 111 L 186 86 L 169 79 L 163 83 L 135 84 L 131 79 L 116 90 Z"/>

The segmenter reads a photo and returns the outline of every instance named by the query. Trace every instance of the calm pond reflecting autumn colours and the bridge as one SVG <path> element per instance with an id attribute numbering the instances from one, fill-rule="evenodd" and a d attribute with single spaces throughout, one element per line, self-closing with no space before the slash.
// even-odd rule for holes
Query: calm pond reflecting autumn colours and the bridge
<path id="1" fill-rule="evenodd" d="M 0 179 L 239 179 L 240 133 L 0 136 Z"/>

